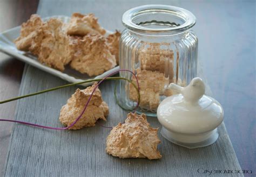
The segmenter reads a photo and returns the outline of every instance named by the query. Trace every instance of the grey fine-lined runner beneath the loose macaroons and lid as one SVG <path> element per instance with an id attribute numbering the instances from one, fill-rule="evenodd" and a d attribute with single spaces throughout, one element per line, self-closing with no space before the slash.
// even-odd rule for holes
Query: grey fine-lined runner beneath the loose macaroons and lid
<path id="1" fill-rule="evenodd" d="M 32 66 L 24 72 L 20 94 L 66 83 Z M 100 121 L 106 126 L 123 122 L 127 115 L 114 102 L 113 89 L 114 82 L 100 86 L 103 99 L 110 107 L 107 122 Z M 16 118 L 60 127 L 59 110 L 75 90 L 76 87 L 70 87 L 20 100 Z M 148 122 L 154 128 L 160 127 L 155 117 L 148 117 Z M 99 125 L 77 131 L 53 131 L 15 124 L 5 176 L 199 176 L 199 168 L 240 168 L 223 124 L 217 143 L 200 149 L 174 145 L 159 134 L 158 148 L 163 155 L 160 160 L 119 159 L 106 154 L 109 132 Z"/>

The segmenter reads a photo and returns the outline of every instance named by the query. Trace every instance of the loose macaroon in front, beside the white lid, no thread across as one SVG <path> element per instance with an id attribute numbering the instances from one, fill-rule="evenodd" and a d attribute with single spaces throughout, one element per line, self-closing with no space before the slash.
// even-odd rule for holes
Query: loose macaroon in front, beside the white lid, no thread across
<path id="1" fill-rule="evenodd" d="M 106 152 L 119 158 L 160 159 L 158 129 L 151 128 L 146 115 L 129 113 L 125 123 L 115 126 L 106 140 Z"/>

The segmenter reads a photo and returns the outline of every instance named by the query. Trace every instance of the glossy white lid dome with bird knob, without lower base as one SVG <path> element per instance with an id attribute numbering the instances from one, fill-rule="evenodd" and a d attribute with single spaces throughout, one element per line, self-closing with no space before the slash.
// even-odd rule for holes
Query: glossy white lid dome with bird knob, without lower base
<path id="1" fill-rule="evenodd" d="M 221 124 L 224 111 L 220 103 L 204 95 L 205 86 L 199 77 L 187 87 L 171 83 L 178 95 L 165 98 L 157 109 L 159 122 L 165 129 L 184 134 L 200 134 L 214 130 Z"/>

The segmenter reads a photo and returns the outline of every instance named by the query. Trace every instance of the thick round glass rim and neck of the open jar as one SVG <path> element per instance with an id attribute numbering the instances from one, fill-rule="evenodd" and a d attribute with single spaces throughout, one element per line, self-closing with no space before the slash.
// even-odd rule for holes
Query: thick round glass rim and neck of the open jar
<path id="1" fill-rule="evenodd" d="M 126 11 L 123 24 L 130 32 L 145 36 L 179 36 L 191 29 L 196 17 L 169 5 L 143 5 Z"/>

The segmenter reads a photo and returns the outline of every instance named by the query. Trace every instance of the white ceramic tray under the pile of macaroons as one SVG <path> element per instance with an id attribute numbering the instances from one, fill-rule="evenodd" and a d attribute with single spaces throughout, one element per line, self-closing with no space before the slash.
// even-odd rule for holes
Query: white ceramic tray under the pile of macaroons
<path id="1" fill-rule="evenodd" d="M 51 17 L 46 17 L 43 18 L 44 21 L 48 20 L 49 18 L 59 18 L 61 19 L 63 22 L 69 22 L 70 17 L 66 17 L 66 16 L 51 16 Z M 42 69 L 45 72 L 48 72 L 52 75 L 55 75 L 57 77 L 60 77 L 63 80 L 66 80 L 68 82 L 71 83 L 75 83 L 75 82 L 82 82 L 85 81 L 87 79 L 100 79 L 105 77 L 107 74 L 110 74 L 113 71 L 116 71 L 119 69 L 119 66 L 114 67 L 110 70 L 107 70 L 105 73 L 98 75 L 96 77 L 90 77 L 87 74 L 81 74 L 79 72 L 77 72 L 75 69 L 70 68 L 69 66 L 65 67 L 64 72 L 60 72 L 57 69 L 53 69 L 50 68 L 46 65 L 43 65 L 42 63 L 40 63 L 36 56 L 33 56 L 31 53 L 29 52 L 24 52 L 24 51 L 19 51 L 15 44 L 14 44 L 14 40 L 19 37 L 19 32 L 21 30 L 21 26 L 17 26 L 14 27 L 13 29 L 10 29 L 8 31 L 5 31 L 3 33 L 0 34 L 0 51 L 4 52 L 8 55 L 14 56 L 15 58 L 24 61 L 26 63 L 28 63 L 29 65 L 32 65 L 34 67 L 37 67 L 38 69 Z M 107 31 L 106 35 L 112 33 L 111 31 Z M 85 83 L 82 84 L 83 86 L 89 86 L 92 83 Z"/>

